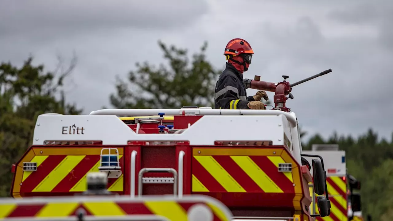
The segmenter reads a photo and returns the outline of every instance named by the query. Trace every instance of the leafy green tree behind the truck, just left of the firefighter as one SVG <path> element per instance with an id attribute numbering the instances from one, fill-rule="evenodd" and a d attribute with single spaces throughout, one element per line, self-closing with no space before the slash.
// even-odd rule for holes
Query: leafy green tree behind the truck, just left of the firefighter
<path id="1" fill-rule="evenodd" d="M 116 108 L 181 108 L 185 105 L 213 106 L 214 88 L 222 70 L 206 60 L 207 42 L 190 59 L 187 50 L 158 42 L 169 68 L 136 63 L 138 70 L 129 72 L 128 80 L 117 78 L 117 94 L 110 95 Z M 131 88 L 131 90 L 129 89 Z"/>

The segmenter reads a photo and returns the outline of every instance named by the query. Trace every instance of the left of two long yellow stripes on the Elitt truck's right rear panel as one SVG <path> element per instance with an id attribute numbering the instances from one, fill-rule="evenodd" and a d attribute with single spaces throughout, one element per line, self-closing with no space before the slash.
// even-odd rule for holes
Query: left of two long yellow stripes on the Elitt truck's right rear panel
<path id="1" fill-rule="evenodd" d="M 228 192 L 246 192 L 212 156 L 194 156 Z"/>

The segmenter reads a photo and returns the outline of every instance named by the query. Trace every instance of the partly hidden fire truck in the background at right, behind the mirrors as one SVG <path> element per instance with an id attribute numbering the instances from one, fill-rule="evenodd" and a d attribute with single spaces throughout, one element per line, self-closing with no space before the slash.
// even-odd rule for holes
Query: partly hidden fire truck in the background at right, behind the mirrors
<path id="1" fill-rule="evenodd" d="M 330 194 L 331 214 L 329 217 L 318 217 L 318 220 L 360 221 L 363 220 L 361 211 L 360 194 L 354 190 L 360 190 L 360 181 L 347 172 L 345 151 L 340 151 L 337 144 L 313 144 L 311 151 L 303 151 L 305 154 L 318 154 L 323 157 L 327 168 L 327 189 Z M 312 170 L 312 169 L 311 169 Z M 310 193 L 314 199 L 316 194 Z M 310 206 L 313 214 L 318 214 L 315 201 Z"/>

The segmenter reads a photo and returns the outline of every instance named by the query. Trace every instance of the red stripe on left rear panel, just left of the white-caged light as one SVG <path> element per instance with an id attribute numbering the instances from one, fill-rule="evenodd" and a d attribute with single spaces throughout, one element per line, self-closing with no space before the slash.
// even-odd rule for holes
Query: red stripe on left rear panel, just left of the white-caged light
<path id="1" fill-rule="evenodd" d="M 99 161 L 99 155 L 87 155 L 73 168 L 51 192 L 69 192 L 84 175 Z"/>

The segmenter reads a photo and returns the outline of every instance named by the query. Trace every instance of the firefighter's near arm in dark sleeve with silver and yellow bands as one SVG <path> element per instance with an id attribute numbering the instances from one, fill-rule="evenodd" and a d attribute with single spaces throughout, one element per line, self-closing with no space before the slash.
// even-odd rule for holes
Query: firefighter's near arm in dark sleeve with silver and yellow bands
<path id="1" fill-rule="evenodd" d="M 234 77 L 223 77 L 217 85 L 217 91 L 214 99 L 221 109 L 250 109 L 247 106 L 250 101 L 239 99 L 239 90 Z"/>

